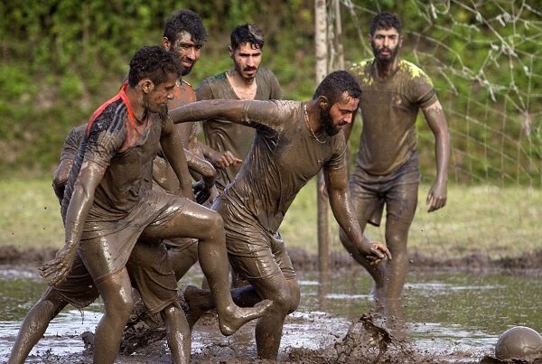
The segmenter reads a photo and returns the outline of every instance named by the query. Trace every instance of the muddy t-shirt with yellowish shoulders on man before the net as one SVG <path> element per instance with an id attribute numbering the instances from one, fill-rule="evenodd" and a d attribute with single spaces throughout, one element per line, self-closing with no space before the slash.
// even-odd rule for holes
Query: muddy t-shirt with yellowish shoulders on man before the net
<path id="1" fill-rule="evenodd" d="M 416 153 L 416 117 L 420 107 L 436 101 L 433 83 L 423 70 L 403 60 L 384 80 L 376 77 L 372 59 L 354 64 L 350 71 L 360 84 L 363 119 L 356 170 L 393 173 Z"/>

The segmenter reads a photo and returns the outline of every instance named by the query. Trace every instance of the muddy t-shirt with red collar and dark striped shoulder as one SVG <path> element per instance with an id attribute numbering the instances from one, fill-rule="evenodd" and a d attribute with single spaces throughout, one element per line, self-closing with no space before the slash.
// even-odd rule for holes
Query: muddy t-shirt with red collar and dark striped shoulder
<path id="1" fill-rule="evenodd" d="M 89 120 L 66 185 L 62 208 L 70 203 L 83 162 L 106 168 L 94 194 L 87 221 L 125 217 L 151 184 L 152 163 L 158 153 L 164 116 L 149 113 L 138 123 L 123 87 Z"/>

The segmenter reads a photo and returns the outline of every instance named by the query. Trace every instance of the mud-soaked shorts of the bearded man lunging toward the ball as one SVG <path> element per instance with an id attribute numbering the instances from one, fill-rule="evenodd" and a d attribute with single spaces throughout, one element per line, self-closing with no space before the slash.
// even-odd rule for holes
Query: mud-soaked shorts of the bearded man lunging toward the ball
<path id="1" fill-rule="evenodd" d="M 286 280 L 296 278 L 280 233 L 268 232 L 241 211 L 229 210 L 232 207 L 227 201 L 217 202 L 213 209 L 224 219 L 229 263 L 238 275 L 248 280 L 281 274 Z"/>

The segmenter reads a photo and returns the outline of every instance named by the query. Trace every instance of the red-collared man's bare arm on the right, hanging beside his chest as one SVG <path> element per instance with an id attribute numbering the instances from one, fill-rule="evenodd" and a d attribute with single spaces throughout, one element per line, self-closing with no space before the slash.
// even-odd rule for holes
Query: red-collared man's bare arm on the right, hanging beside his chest
<path id="1" fill-rule="evenodd" d="M 178 128 L 173 127 L 173 123 L 169 118 L 164 121 L 160 145 L 162 145 L 164 156 L 172 166 L 173 172 L 179 181 L 178 194 L 190 196 L 191 200 L 193 200 L 192 180 L 188 171 L 184 148 L 182 147 L 182 138 Z"/>

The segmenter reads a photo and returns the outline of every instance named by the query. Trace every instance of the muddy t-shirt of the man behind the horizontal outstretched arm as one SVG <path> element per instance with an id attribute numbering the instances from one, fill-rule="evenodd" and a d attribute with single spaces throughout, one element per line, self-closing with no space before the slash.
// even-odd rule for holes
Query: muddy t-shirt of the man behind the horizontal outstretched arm
<path id="1" fill-rule="evenodd" d="M 273 72 L 260 68 L 256 74 L 257 90 L 256 100 L 281 99 L 282 90 Z M 209 100 L 217 98 L 239 99 L 229 84 L 226 72 L 216 76 L 203 79 L 196 89 L 198 100 Z M 250 145 L 254 140 L 254 130 L 250 127 L 231 123 L 225 119 L 206 120 L 203 123 L 205 143 L 219 152 L 230 151 L 238 158 L 245 160 Z M 217 187 L 224 190 L 229 182 L 232 182 L 241 168 L 236 164 L 224 169 L 217 169 Z"/>

